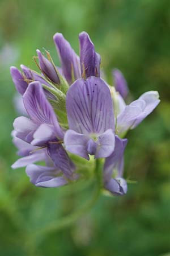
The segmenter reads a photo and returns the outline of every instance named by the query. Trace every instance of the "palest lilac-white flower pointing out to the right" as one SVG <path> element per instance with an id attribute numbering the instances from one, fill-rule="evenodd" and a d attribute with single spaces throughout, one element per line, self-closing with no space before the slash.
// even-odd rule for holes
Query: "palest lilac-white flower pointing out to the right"
<path id="1" fill-rule="evenodd" d="M 159 102 L 158 92 L 150 91 L 143 93 L 130 105 L 124 105 L 117 115 L 116 133 L 122 134 L 137 127 L 158 106 Z"/>

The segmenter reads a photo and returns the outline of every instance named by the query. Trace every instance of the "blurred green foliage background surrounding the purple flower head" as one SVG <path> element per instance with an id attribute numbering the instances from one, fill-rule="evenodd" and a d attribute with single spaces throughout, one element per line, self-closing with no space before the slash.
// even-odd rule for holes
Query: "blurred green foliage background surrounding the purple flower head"
<path id="1" fill-rule="evenodd" d="M 45 47 L 56 61 L 53 35 L 62 32 L 76 52 L 87 31 L 112 82 L 119 68 L 133 98 L 158 90 L 161 104 L 128 134 L 125 176 L 137 180 L 124 197 L 101 196 L 69 228 L 30 237 L 77 203 L 87 188 L 43 189 L 29 183 L 11 142 L 15 88 L 9 67 L 35 68 Z M 170 253 L 170 2 L 169 0 L 0 0 L 0 255 L 161 256 Z"/>

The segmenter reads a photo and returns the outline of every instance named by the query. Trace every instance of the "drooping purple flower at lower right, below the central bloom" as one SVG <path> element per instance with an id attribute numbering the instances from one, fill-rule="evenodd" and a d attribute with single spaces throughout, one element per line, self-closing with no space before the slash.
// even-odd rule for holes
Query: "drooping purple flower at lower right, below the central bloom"
<path id="1" fill-rule="evenodd" d="M 124 150 L 127 142 L 127 139 L 120 139 L 116 135 L 114 151 L 105 159 L 103 173 L 104 187 L 113 195 L 124 195 L 128 189 L 126 181 L 122 178 L 124 171 Z"/>

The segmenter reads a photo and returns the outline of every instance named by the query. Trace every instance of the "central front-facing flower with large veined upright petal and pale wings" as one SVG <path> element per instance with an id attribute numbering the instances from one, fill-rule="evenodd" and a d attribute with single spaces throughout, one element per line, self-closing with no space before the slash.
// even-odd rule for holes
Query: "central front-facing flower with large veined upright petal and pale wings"
<path id="1" fill-rule="evenodd" d="M 105 82 L 97 77 L 79 79 L 71 85 L 66 96 L 66 150 L 89 160 L 105 158 L 114 150 L 114 115 L 111 93 Z"/>

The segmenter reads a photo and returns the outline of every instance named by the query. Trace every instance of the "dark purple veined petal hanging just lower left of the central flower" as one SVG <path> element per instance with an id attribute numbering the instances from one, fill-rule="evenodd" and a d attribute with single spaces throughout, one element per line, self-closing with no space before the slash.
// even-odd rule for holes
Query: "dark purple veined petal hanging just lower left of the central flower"
<path id="1" fill-rule="evenodd" d="M 48 154 L 56 168 L 61 170 L 68 179 L 72 179 L 75 166 L 63 146 L 61 144 L 48 143 Z"/>

